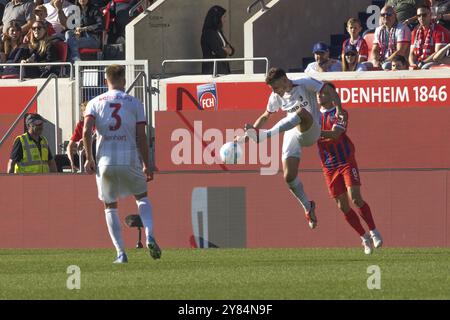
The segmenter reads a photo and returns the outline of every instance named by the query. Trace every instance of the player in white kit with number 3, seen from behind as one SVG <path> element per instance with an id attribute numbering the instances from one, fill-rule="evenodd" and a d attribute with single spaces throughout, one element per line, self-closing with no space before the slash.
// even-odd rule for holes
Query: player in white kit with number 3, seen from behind
<path id="1" fill-rule="evenodd" d="M 108 92 L 89 101 L 85 111 L 83 142 L 85 169 L 96 172 L 98 197 L 105 205 L 106 223 L 117 250 L 114 263 L 128 262 L 122 240 L 117 209 L 118 198 L 134 195 L 153 259 L 161 249 L 153 236 L 152 206 L 147 197 L 147 182 L 153 179 L 145 133 L 144 108 L 136 98 L 126 94 L 125 68 L 106 68 Z M 92 129 L 97 133 L 97 168 L 92 154 Z"/>

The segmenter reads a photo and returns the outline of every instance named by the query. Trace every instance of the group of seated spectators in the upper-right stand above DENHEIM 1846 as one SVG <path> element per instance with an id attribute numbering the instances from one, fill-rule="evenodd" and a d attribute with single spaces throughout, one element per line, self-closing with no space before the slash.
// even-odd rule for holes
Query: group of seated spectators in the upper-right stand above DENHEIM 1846
<path id="1" fill-rule="evenodd" d="M 361 35 L 361 22 L 350 18 L 341 62 L 330 58 L 326 43 L 318 42 L 312 51 L 315 61 L 305 72 L 429 69 L 449 64 L 450 0 L 387 0 L 379 22 L 369 45 Z"/>

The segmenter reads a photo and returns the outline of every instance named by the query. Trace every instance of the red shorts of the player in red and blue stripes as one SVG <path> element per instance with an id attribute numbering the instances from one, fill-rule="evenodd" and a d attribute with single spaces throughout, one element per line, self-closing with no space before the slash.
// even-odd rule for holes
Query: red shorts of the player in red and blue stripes
<path id="1" fill-rule="evenodd" d="M 350 161 L 337 169 L 323 169 L 328 192 L 333 198 L 347 192 L 351 186 L 360 186 L 359 171 L 356 161 Z"/>

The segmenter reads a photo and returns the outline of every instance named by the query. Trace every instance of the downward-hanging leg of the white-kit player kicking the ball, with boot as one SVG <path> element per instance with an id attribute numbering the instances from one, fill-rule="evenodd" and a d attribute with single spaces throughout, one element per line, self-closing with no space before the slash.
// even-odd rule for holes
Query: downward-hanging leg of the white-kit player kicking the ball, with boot
<path id="1" fill-rule="evenodd" d="M 294 197 L 300 202 L 305 210 L 305 216 L 311 229 L 317 227 L 317 217 L 315 213 L 315 203 L 310 201 L 303 188 L 303 183 L 298 177 L 298 166 L 300 158 L 287 157 L 283 159 L 284 180 L 289 186 Z"/>

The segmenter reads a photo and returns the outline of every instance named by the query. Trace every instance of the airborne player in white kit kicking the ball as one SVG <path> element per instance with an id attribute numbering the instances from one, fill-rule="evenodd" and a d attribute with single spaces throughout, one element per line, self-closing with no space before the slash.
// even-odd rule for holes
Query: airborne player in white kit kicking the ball
<path id="1" fill-rule="evenodd" d="M 290 80 L 284 70 L 271 68 L 266 77 L 266 83 L 272 88 L 266 111 L 253 125 L 246 124 L 246 136 L 257 142 L 285 132 L 283 137 L 282 161 L 284 179 L 305 210 L 305 216 L 311 229 L 317 226 L 315 203 L 307 197 L 303 184 L 298 178 L 302 147 L 309 147 L 320 137 L 320 109 L 317 104 L 316 93 L 326 90 L 337 107 L 337 116 L 342 115 L 342 108 L 338 94 L 327 83 L 313 78 Z M 278 110 L 287 112 L 269 130 L 260 129 Z M 237 137 L 242 141 L 242 137 Z"/>

